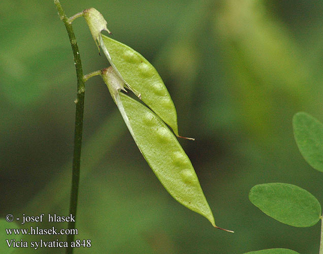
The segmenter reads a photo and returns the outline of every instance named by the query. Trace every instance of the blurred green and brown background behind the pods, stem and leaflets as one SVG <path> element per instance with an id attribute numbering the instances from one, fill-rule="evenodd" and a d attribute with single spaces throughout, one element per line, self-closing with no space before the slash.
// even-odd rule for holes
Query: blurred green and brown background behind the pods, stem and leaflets
<path id="1" fill-rule="evenodd" d="M 86 83 L 76 236 L 92 247 L 75 253 L 318 252 L 320 225 L 280 224 L 248 193 L 255 184 L 286 182 L 323 202 L 323 175 L 303 160 L 291 123 L 298 111 L 323 120 L 322 0 L 61 4 L 68 16 L 98 9 L 113 38 L 155 66 L 177 108 L 180 135 L 196 138 L 179 142 L 215 222 L 235 231 L 215 230 L 172 199 L 94 77 Z M 76 75 L 66 30 L 53 1 L 2 0 L 0 21 L 0 216 L 67 215 Z M 73 26 L 84 74 L 107 67 L 84 19 Z M 46 237 L 24 240 L 39 238 Z M 36 251 L 64 253 L 14 253 Z"/>

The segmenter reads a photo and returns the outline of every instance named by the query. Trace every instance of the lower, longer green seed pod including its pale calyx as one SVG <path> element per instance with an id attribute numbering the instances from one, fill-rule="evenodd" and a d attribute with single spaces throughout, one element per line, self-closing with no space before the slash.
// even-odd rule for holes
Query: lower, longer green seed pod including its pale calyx
<path id="1" fill-rule="evenodd" d="M 103 70 L 102 76 L 139 150 L 161 184 L 175 200 L 202 214 L 216 227 L 189 158 L 167 125 L 146 106 L 119 91 L 123 82 L 112 67 Z"/>

